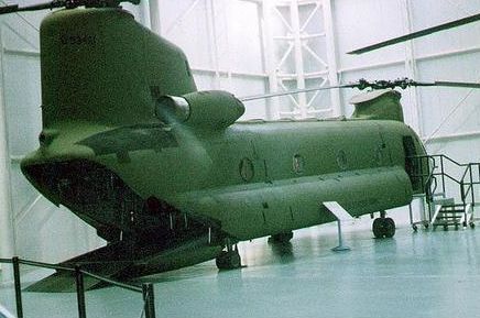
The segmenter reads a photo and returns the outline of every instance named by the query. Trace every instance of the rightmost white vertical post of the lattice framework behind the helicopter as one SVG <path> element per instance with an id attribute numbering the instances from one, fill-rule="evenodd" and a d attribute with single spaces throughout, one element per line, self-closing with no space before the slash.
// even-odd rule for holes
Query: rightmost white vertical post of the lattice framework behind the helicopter
<path id="1" fill-rule="evenodd" d="M 323 0 L 321 10 L 324 13 L 325 36 L 327 42 L 328 83 L 330 86 L 338 85 L 337 45 L 335 43 L 334 12 L 331 0 Z M 330 102 L 334 116 L 345 114 L 340 102 L 340 90 L 330 89 Z"/>

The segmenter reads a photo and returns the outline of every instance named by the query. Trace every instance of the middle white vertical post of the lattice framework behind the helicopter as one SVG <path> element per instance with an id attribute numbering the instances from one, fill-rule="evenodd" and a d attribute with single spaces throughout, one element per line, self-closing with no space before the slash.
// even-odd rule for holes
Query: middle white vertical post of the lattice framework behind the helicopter
<path id="1" fill-rule="evenodd" d="M 298 12 L 298 0 L 292 0 L 290 3 L 290 14 L 292 20 L 292 31 L 295 52 L 295 73 L 296 73 L 296 87 L 297 89 L 305 89 L 305 69 L 304 59 L 302 54 L 302 39 L 301 39 L 301 22 Z M 298 94 L 298 107 L 301 118 L 307 117 L 307 98 L 305 92 Z"/>

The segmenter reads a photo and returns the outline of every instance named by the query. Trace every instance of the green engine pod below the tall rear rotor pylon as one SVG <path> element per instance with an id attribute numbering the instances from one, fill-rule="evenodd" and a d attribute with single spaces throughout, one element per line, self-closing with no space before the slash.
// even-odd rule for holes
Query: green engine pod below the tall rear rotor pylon
<path id="1" fill-rule="evenodd" d="M 246 111 L 243 103 L 222 90 L 194 91 L 157 99 L 155 116 L 166 123 L 179 122 L 192 128 L 221 130 Z"/>

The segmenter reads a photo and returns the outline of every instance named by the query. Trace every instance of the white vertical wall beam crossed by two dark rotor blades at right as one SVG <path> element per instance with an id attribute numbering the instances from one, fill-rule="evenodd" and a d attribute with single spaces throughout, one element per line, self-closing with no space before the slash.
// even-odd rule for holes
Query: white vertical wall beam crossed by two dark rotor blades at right
<path id="1" fill-rule="evenodd" d="M 404 31 L 405 33 L 411 33 L 412 28 L 412 12 L 410 0 L 402 0 L 401 2 L 404 7 L 403 15 L 404 15 Z M 405 74 L 406 77 L 415 79 L 416 78 L 416 61 L 415 61 L 415 52 L 413 47 L 413 42 L 405 42 Z M 412 107 L 408 109 L 408 113 L 406 114 L 410 123 L 417 131 L 418 135 L 423 135 L 423 119 L 422 112 L 419 109 L 418 102 L 418 89 L 416 87 L 410 88 L 410 97 L 412 101 Z"/>

